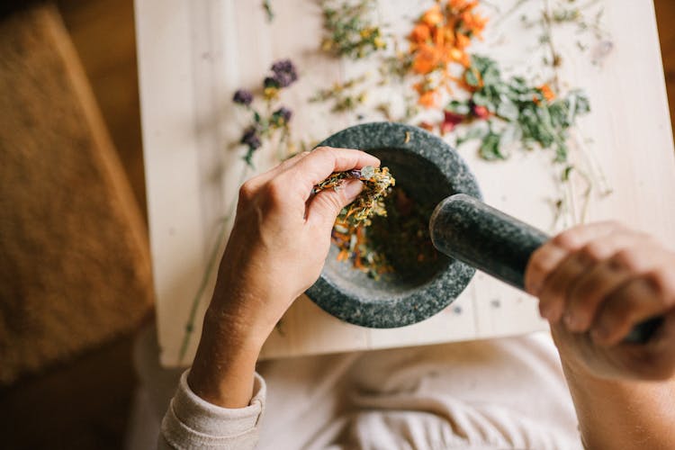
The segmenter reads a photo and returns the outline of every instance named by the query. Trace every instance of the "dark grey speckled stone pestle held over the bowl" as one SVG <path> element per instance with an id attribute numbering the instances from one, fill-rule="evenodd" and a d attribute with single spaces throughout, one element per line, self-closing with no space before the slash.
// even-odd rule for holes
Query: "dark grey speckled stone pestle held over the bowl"
<path id="1" fill-rule="evenodd" d="M 429 231 L 438 251 L 523 291 L 527 261 L 549 239 L 543 231 L 464 193 L 438 203 Z M 644 344 L 662 320 L 639 323 L 624 342 Z"/>

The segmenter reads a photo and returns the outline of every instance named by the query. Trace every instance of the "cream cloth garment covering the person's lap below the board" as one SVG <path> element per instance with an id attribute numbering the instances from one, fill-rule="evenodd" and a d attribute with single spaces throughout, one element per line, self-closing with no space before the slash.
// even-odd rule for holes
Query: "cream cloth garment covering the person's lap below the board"
<path id="1" fill-rule="evenodd" d="M 131 450 L 157 436 L 182 372 L 158 365 L 155 334 L 136 348 Z M 257 372 L 267 383 L 261 449 L 581 446 L 546 333 L 264 361 Z"/>

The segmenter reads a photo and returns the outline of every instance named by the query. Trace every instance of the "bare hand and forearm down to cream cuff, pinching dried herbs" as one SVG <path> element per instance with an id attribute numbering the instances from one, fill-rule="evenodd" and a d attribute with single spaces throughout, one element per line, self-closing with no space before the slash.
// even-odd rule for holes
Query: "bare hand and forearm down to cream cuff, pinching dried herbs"
<path id="1" fill-rule="evenodd" d="M 359 150 L 317 148 L 241 186 L 237 217 L 220 261 L 188 383 L 221 406 L 245 406 L 253 366 L 275 324 L 321 273 L 339 211 L 363 184 L 311 196 L 333 172 L 380 166 Z"/>

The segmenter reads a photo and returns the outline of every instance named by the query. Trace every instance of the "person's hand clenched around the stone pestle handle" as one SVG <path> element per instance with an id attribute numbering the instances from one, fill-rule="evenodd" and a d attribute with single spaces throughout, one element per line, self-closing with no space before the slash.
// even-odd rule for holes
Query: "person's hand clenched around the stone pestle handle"
<path id="1" fill-rule="evenodd" d="M 530 257 L 525 284 L 569 369 L 640 379 L 675 372 L 675 253 L 653 238 L 614 222 L 568 229 Z M 649 342 L 622 342 L 654 316 L 665 321 Z"/>

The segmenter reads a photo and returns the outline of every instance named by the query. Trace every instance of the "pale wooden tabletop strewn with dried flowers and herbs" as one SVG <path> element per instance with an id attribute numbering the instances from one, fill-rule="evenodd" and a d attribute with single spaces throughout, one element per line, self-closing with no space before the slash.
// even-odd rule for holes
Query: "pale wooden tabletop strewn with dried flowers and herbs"
<path id="1" fill-rule="evenodd" d="M 320 6 L 313 0 L 273 0 L 275 21 L 267 23 L 257 0 L 137 0 L 137 40 L 148 216 L 157 293 L 157 325 L 164 365 L 192 360 L 213 280 L 197 310 L 196 329 L 184 361 L 178 353 L 193 296 L 217 240 L 220 220 L 231 208 L 241 181 L 242 150 L 229 148 L 246 118 L 231 103 L 238 87 L 255 87 L 278 58 L 292 58 L 301 80 L 284 92 L 293 107 L 293 135 L 317 141 L 356 123 L 308 104 L 317 88 L 367 69 L 318 51 Z M 430 1 L 381 0 L 379 20 L 404 31 Z M 495 2 L 491 2 L 495 4 Z M 507 11 L 512 1 L 499 2 Z M 541 8 L 531 0 L 527 8 Z M 484 9 L 489 15 L 497 13 Z M 526 31 L 512 14 L 489 24 L 475 52 L 498 58 L 514 73 L 536 76 L 540 66 L 536 31 Z M 494 22 L 494 21 L 493 21 Z M 617 219 L 675 238 L 675 161 L 661 54 L 646 0 L 605 2 L 604 26 L 614 49 L 601 66 L 575 49 L 572 31 L 556 31 L 563 54 L 561 78 L 590 94 L 592 112 L 574 139 L 603 167 L 613 193 L 591 195 L 591 220 Z M 533 75 L 534 74 L 534 75 Z M 377 119 L 377 118 L 372 118 Z M 485 200 L 534 225 L 553 231 L 551 201 L 558 196 L 551 155 L 514 151 L 507 162 L 487 163 L 470 148 L 461 154 L 481 184 Z M 579 152 L 576 155 L 581 155 Z M 583 157 L 581 157 L 583 159 Z M 275 164 L 263 149 L 260 170 Z M 249 174 L 252 175 L 252 174 Z M 573 193 L 579 199 L 579 193 Z M 580 210 L 577 204 L 576 211 Z M 573 217 L 567 217 L 568 224 Z M 263 357 L 404 347 L 492 338 L 545 329 L 536 302 L 486 275 L 477 275 L 460 298 L 437 316 L 402 329 L 364 329 L 321 311 L 306 297 L 284 316 L 268 339 Z"/>

